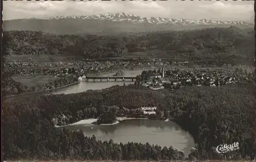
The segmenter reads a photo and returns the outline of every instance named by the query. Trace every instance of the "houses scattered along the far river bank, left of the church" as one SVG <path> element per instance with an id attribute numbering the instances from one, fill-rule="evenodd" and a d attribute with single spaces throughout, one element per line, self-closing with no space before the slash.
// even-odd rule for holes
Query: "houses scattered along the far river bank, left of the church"
<path id="1" fill-rule="evenodd" d="M 95 75 L 104 72 L 112 72 L 118 70 L 118 67 L 131 69 L 137 68 L 141 65 L 148 65 L 150 63 L 138 61 L 77 61 L 77 62 L 5 62 L 4 67 L 12 71 L 12 75 L 81 75 L 89 74 Z M 32 68 L 31 68 L 32 67 Z M 36 68 L 33 68 L 36 67 Z"/>

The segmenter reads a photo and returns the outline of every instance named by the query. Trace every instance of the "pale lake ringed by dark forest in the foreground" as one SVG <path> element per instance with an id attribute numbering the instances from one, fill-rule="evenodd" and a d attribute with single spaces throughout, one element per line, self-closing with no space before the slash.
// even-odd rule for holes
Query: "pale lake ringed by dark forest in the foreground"
<path id="1" fill-rule="evenodd" d="M 93 129 L 91 129 L 93 127 Z M 112 139 L 116 143 L 138 142 L 173 146 L 185 155 L 195 146 L 193 137 L 174 122 L 162 120 L 124 120 L 115 125 L 72 125 L 69 130 L 82 130 L 84 135 L 93 136 L 102 141 Z"/>

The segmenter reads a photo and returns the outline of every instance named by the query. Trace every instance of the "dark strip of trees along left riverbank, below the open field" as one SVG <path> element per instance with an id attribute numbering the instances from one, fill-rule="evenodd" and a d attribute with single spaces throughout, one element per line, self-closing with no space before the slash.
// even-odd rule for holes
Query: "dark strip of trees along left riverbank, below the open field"
<path id="1" fill-rule="evenodd" d="M 75 77 L 59 77 L 58 79 L 48 82 L 34 85 L 25 85 L 20 82 L 16 82 L 9 76 L 8 72 L 2 75 L 2 93 L 3 96 L 13 96 L 20 94 L 27 94 L 30 92 L 43 91 L 59 88 L 69 84 L 77 82 Z"/>

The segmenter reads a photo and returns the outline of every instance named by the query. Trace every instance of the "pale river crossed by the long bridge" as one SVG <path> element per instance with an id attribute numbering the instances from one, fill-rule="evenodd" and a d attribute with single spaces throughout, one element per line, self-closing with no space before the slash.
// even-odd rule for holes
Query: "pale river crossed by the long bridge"
<path id="1" fill-rule="evenodd" d="M 148 68 L 147 68 L 148 69 Z M 154 70 L 155 68 L 152 68 L 152 70 Z M 136 77 L 137 75 L 140 75 L 142 73 L 144 69 L 140 69 L 140 70 L 133 70 L 133 71 L 125 71 L 126 74 L 124 76 L 126 77 Z M 156 68 L 157 70 L 157 68 Z M 111 77 L 116 73 L 108 73 L 108 74 L 102 74 L 100 76 L 102 77 Z M 125 84 L 134 84 L 134 81 L 132 82 L 131 80 L 129 81 L 125 81 Z M 74 94 L 74 93 L 78 93 L 78 92 L 83 92 L 83 91 L 87 91 L 89 89 L 105 89 L 105 88 L 109 88 L 111 86 L 114 85 L 121 85 L 123 86 L 123 82 L 122 80 L 119 81 L 114 81 L 111 80 L 109 82 L 107 82 L 106 80 L 102 80 L 102 82 L 100 80 L 96 80 L 95 82 L 93 82 L 92 80 L 89 80 L 89 82 L 79 82 L 78 84 L 75 85 L 71 85 L 65 88 L 60 88 L 57 90 L 54 90 L 52 92 L 52 94 Z"/>

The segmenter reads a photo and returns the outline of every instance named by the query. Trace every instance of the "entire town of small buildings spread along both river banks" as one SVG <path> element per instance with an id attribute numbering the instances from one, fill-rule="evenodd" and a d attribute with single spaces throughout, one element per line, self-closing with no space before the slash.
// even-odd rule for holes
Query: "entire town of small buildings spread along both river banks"
<path id="1" fill-rule="evenodd" d="M 183 86 L 222 86 L 233 83 L 252 83 L 253 67 L 245 65 L 223 65 L 222 67 L 189 67 L 189 61 L 139 60 L 133 61 L 59 61 L 38 63 L 30 60 L 5 62 L 9 76 L 54 76 L 72 77 L 79 81 L 82 76 L 92 77 L 117 70 L 136 70 L 156 67 L 157 71 L 143 71 L 137 78 L 152 89 L 180 88 Z M 112 77 L 113 76 L 109 76 Z M 133 76 L 136 77 L 136 76 Z M 101 79 L 100 79 L 101 80 Z M 115 79 L 116 80 L 116 79 Z M 124 81 L 124 80 L 122 80 Z M 133 81 L 133 79 L 132 79 Z M 124 84 L 125 85 L 125 84 Z M 49 89 L 49 88 L 48 88 Z"/>

